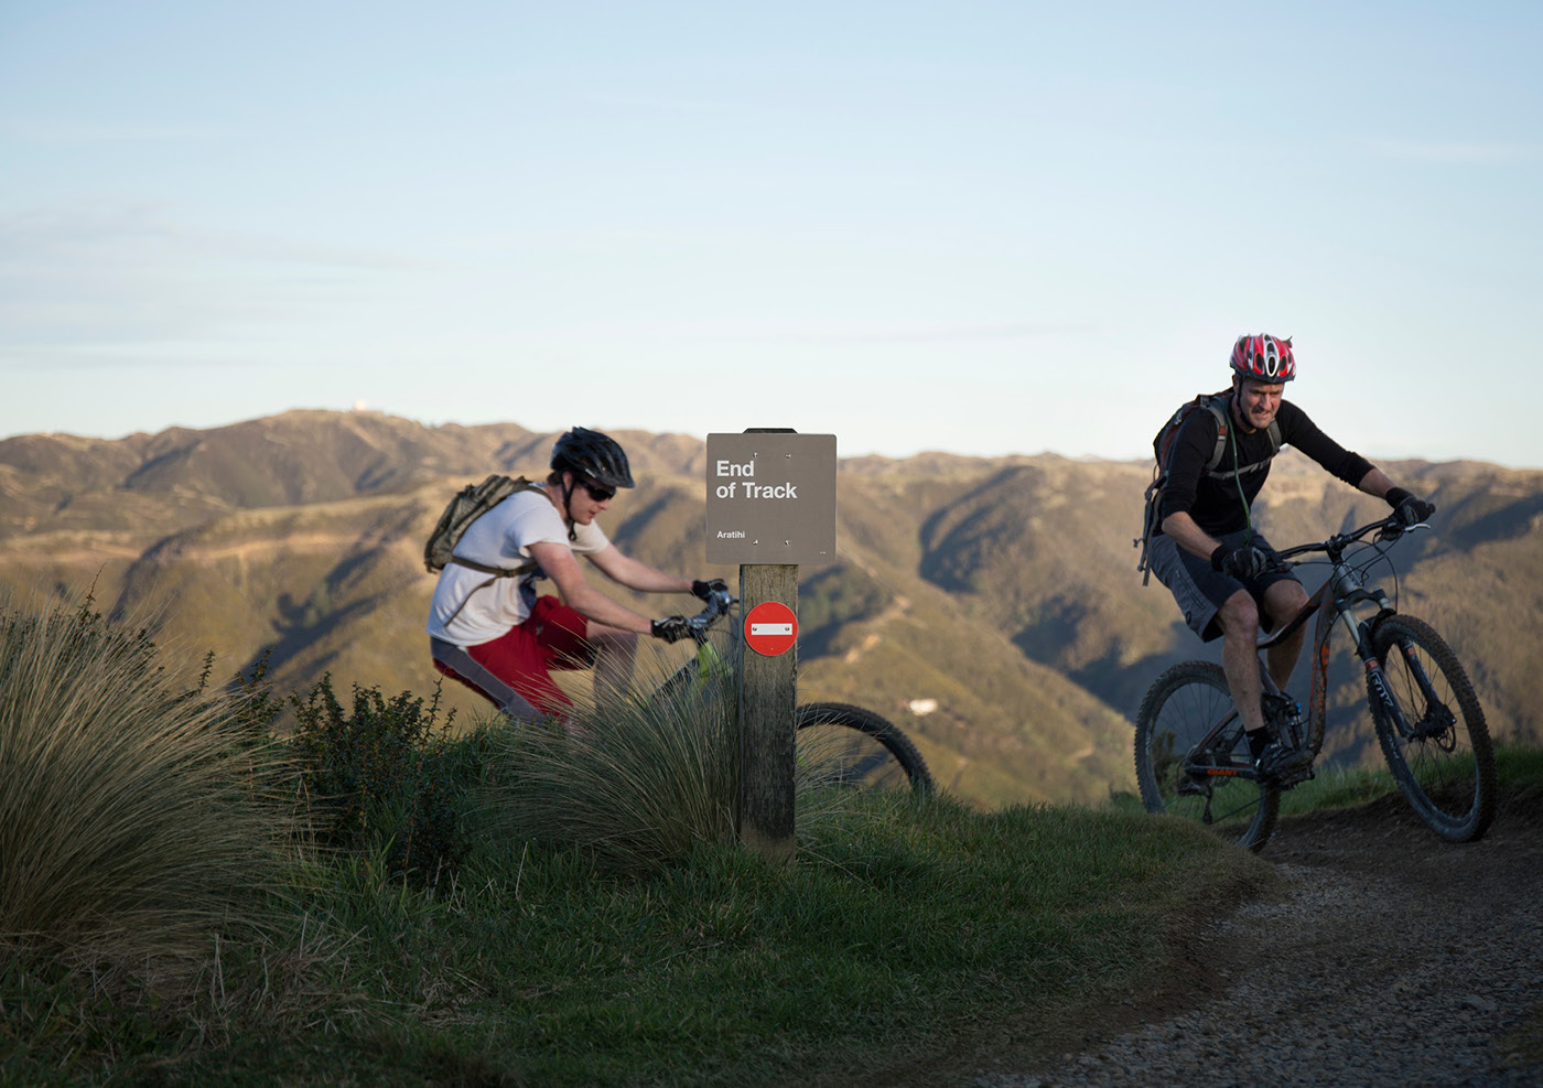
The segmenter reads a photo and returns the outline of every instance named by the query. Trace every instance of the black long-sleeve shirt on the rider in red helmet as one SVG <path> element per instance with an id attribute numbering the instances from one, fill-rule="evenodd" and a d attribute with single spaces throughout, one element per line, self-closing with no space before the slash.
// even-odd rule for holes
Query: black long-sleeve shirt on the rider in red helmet
<path id="1" fill-rule="evenodd" d="M 1228 411 L 1231 397 L 1227 398 Z M 1281 401 L 1281 444 L 1293 446 L 1352 488 L 1359 485 L 1372 463 L 1318 429 L 1307 412 L 1290 401 Z M 1264 431 L 1244 434 L 1231 420 L 1233 438 L 1227 440 L 1216 472 L 1231 472 L 1239 465 L 1265 461 L 1270 457 L 1270 435 Z M 1234 444 L 1236 440 L 1236 444 Z M 1205 461 L 1216 449 L 1216 417 L 1194 411 L 1174 437 L 1168 483 L 1163 486 L 1162 517 L 1185 512 L 1213 537 L 1236 532 L 1248 525 L 1248 509 L 1270 475 L 1270 465 L 1241 477 L 1204 475 Z"/>

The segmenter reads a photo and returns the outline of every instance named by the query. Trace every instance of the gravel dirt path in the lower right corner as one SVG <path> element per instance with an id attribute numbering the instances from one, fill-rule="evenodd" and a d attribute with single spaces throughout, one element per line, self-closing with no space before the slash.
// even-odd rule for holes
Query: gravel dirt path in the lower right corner
<path id="1" fill-rule="evenodd" d="M 1446 844 L 1401 798 L 1282 821 L 1287 878 L 1080 1051 L 957 1083 L 1543 1085 L 1543 790 Z"/>

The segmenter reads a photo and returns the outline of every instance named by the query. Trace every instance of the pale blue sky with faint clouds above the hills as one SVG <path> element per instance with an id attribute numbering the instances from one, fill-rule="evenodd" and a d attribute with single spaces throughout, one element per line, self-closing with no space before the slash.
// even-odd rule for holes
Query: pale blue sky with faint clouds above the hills
<path id="1" fill-rule="evenodd" d="M 0 5 L 0 435 L 289 407 L 1134 458 L 1295 336 L 1543 466 L 1537 3 Z"/>

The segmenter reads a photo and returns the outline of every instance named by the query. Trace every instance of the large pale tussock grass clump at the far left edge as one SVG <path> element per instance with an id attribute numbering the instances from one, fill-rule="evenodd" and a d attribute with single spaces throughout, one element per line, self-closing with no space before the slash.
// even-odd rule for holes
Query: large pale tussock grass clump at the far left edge
<path id="1" fill-rule="evenodd" d="M 143 630 L 0 599 L 0 938 L 196 958 L 273 872 L 270 750 Z"/>

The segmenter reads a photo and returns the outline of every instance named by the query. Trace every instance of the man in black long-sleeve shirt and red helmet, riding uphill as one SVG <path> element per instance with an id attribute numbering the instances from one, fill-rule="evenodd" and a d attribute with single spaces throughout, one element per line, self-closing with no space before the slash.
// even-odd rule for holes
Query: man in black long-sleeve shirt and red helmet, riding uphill
<path id="1" fill-rule="evenodd" d="M 1207 469 L 1217 441 L 1211 412 L 1190 412 L 1174 438 L 1162 498 L 1162 529 L 1151 542 L 1151 569 L 1168 586 L 1190 628 L 1205 642 L 1222 639 L 1222 668 L 1233 704 L 1248 732 L 1261 772 L 1281 773 L 1310 761 L 1307 752 L 1270 744 L 1261 708 L 1262 682 L 1256 633 L 1278 628 L 1307 603 L 1307 591 L 1253 528 L 1251 506 L 1270 475 L 1276 444 L 1293 446 L 1330 474 L 1369 495 L 1384 498 L 1404 525 L 1435 512 L 1359 454 L 1325 435 L 1296 404 L 1281 400 L 1296 377 L 1290 338 L 1239 336 L 1231 355 L 1227 394 L 1231 426 L 1222 460 Z M 1267 653 L 1270 677 L 1284 690 L 1302 651 L 1307 628 Z"/>

